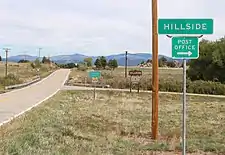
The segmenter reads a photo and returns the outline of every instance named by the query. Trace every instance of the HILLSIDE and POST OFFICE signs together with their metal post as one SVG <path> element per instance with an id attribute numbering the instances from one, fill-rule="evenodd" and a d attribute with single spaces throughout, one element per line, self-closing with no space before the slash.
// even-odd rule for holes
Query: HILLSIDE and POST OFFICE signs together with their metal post
<path id="1" fill-rule="evenodd" d="M 199 57 L 198 38 L 201 38 L 203 34 L 213 34 L 213 19 L 158 19 L 158 25 L 159 34 L 166 34 L 167 37 L 172 38 L 172 58 L 183 59 L 182 155 L 186 155 L 186 59 Z M 195 26 L 189 29 L 184 25 Z M 169 36 L 171 34 L 185 36 Z M 190 34 L 201 34 L 201 36 L 187 36 Z"/>

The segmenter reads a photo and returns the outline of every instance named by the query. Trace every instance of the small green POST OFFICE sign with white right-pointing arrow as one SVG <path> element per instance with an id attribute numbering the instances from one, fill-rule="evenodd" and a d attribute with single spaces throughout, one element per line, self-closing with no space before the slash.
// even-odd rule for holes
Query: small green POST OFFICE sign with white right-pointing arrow
<path id="1" fill-rule="evenodd" d="M 173 37 L 172 58 L 197 59 L 199 57 L 198 45 L 197 37 Z"/>

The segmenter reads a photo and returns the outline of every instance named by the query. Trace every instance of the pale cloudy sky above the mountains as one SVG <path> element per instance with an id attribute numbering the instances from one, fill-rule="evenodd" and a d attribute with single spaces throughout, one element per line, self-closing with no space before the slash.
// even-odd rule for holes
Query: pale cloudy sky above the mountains
<path id="1" fill-rule="evenodd" d="M 159 18 L 213 18 L 225 35 L 224 0 L 158 0 Z M 1 0 L 0 48 L 9 55 L 151 52 L 151 0 Z M 159 53 L 171 55 L 171 40 L 159 37 Z M 1 50 L 0 55 L 3 55 Z"/>

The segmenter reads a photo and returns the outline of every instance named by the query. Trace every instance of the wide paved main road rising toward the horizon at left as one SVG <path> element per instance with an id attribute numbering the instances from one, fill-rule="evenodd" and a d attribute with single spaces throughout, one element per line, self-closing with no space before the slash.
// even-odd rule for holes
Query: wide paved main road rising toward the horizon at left
<path id="1" fill-rule="evenodd" d="M 0 125 L 59 91 L 69 72 L 68 69 L 60 69 L 31 86 L 0 94 Z"/>

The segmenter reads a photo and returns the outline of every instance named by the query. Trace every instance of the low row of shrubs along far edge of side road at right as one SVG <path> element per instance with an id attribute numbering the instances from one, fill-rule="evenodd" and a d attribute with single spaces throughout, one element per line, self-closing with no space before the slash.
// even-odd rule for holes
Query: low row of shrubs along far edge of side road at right
<path id="1" fill-rule="evenodd" d="M 110 74 L 103 73 L 103 81 L 105 84 L 110 85 L 112 88 L 130 88 L 130 79 L 124 77 L 112 77 Z M 182 92 L 182 81 L 174 79 L 160 79 L 159 90 L 165 92 Z M 143 76 L 139 83 L 140 90 L 152 90 L 152 80 L 150 77 Z M 138 85 L 133 85 L 133 89 L 137 89 Z M 214 94 L 225 95 L 225 85 L 219 82 L 211 81 L 190 81 L 187 80 L 187 92 L 196 94 Z"/>

